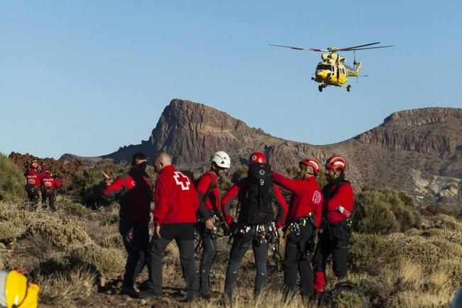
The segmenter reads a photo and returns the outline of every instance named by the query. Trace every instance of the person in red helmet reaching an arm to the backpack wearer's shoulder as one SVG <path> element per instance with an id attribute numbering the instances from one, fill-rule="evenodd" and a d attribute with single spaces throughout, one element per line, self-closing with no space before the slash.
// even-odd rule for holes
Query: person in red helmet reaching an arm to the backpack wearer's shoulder
<path id="1" fill-rule="evenodd" d="M 308 255 L 313 253 L 315 231 L 321 224 L 322 193 L 316 182 L 320 165 L 309 157 L 299 162 L 298 179 L 292 180 L 273 171 L 273 182 L 292 192 L 287 214 L 284 256 L 284 301 L 295 293 L 300 275 L 302 298 L 313 294 L 313 272 Z"/>

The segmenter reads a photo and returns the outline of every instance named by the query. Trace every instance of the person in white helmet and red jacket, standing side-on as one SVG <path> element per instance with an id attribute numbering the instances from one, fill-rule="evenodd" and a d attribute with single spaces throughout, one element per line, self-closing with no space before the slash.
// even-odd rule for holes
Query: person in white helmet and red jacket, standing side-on
<path id="1" fill-rule="evenodd" d="M 199 267 L 199 296 L 205 299 L 211 297 L 209 286 L 209 273 L 211 264 L 216 255 L 216 229 L 221 216 L 220 199 L 221 193 L 218 187 L 218 179 L 231 167 L 231 159 L 228 153 L 218 151 L 211 157 L 210 170 L 199 177 L 197 194 L 199 194 L 199 211 L 196 228 L 202 240 L 202 259 Z"/>

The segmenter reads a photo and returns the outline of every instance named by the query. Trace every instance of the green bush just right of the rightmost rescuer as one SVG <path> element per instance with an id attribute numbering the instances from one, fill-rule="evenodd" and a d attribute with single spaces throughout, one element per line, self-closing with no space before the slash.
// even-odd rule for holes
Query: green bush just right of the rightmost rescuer
<path id="1" fill-rule="evenodd" d="M 356 194 L 353 229 L 363 233 L 391 233 L 419 227 L 422 217 L 406 192 L 364 187 Z"/>

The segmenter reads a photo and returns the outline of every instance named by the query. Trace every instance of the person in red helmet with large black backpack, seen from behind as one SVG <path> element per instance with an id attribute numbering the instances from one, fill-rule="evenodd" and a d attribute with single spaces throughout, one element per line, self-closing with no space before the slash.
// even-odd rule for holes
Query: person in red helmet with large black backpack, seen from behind
<path id="1" fill-rule="evenodd" d="M 254 171 L 262 177 L 254 180 Z M 252 246 L 256 273 L 253 294 L 258 298 L 267 277 L 268 242 L 284 223 L 287 203 L 277 186 L 273 185 L 270 165 L 263 153 L 255 152 L 249 158 L 248 177 L 233 185 L 221 200 L 224 219 L 233 231 L 233 243 L 229 253 L 224 287 L 224 304 L 231 304 L 233 286 L 237 279 L 239 263 L 248 248 Z M 256 183 L 255 183 L 256 182 Z M 255 188 L 255 186 L 257 188 Z M 240 205 L 237 223 L 230 213 L 231 199 L 238 196 Z M 278 207 L 276 223 L 273 213 L 273 199 Z"/>

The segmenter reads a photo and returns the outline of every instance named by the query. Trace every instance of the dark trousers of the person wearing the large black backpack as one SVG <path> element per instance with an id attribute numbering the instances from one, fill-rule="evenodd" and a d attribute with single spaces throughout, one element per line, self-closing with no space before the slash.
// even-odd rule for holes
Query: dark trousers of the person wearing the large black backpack
<path id="1" fill-rule="evenodd" d="M 265 231 L 268 232 L 268 227 L 265 226 Z M 229 253 L 229 263 L 226 269 L 226 280 L 224 282 L 224 292 L 226 300 L 231 302 L 233 298 L 233 287 L 236 283 L 239 263 L 243 256 L 248 251 L 248 248 L 253 248 L 253 256 L 255 258 L 255 265 L 257 273 L 255 273 L 255 287 L 253 293 L 258 296 L 265 284 L 268 275 L 267 260 L 268 260 L 268 242 L 258 243 L 254 240 L 255 226 L 250 229 L 246 235 L 236 235 L 233 238 L 231 252 Z"/>

